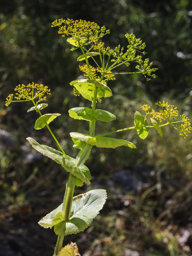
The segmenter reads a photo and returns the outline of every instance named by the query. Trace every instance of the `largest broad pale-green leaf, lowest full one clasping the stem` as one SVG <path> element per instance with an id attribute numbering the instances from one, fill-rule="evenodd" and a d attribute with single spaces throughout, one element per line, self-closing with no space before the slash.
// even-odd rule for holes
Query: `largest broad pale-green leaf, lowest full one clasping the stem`
<path id="1" fill-rule="evenodd" d="M 62 210 L 63 204 L 57 207 L 52 212 L 48 213 L 43 219 L 39 221 L 39 224 L 44 228 L 51 228 L 52 221 L 56 214 L 58 217 L 55 220 L 61 220 L 55 224 L 54 231 L 58 235 L 66 236 L 69 234 L 76 234 L 80 231 L 84 231 L 85 228 L 90 226 L 92 220 L 97 216 L 99 211 L 103 208 L 107 199 L 106 190 L 104 189 L 93 189 L 87 193 L 74 196 L 71 217 L 69 220 L 62 220 L 62 214 L 58 214 Z M 57 221 L 56 221 L 57 222 Z"/>

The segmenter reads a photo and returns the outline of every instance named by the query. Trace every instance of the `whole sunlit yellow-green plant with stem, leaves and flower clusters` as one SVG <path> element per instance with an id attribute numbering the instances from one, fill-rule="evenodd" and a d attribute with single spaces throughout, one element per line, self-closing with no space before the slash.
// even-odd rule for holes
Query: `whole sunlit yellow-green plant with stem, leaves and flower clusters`
<path id="1" fill-rule="evenodd" d="M 107 193 L 104 189 L 94 189 L 84 194 L 73 196 L 75 186 L 81 187 L 84 183 L 90 184 L 91 173 L 84 163 L 89 157 L 92 147 L 117 148 L 125 146 L 134 149 L 136 146 L 132 142 L 115 139 L 109 135 L 135 129 L 139 137 L 145 139 L 148 136 L 149 129 L 155 128 L 160 136 L 163 136 L 162 127 L 165 125 L 171 125 L 179 131 L 183 138 L 186 138 L 188 133 L 190 133 L 191 126 L 185 114 L 179 116 L 175 106 L 163 101 L 162 103 L 156 103 L 160 108 L 158 110 L 151 109 L 148 104 L 142 105 L 141 108 L 145 115 L 136 111 L 133 121 L 134 126 L 132 127 L 108 132 L 100 136 L 95 135 L 95 124 L 98 120 L 110 122 L 116 119 L 116 116 L 107 110 L 96 108 L 97 103 L 101 102 L 102 98 L 112 96 L 112 90 L 108 87 L 107 81 L 115 80 L 117 74 L 136 73 L 143 74 L 148 81 L 151 77 L 156 78 L 154 74 L 156 68 L 152 68 L 153 63 L 149 62 L 148 59 L 142 59 L 142 55 L 146 54 L 143 51 L 145 43 L 142 43 L 142 40 L 136 38 L 133 34 L 125 34 L 127 38 L 126 49 L 120 45 L 116 46 L 115 49 L 111 49 L 109 46 L 105 47 L 105 43 L 102 41 L 102 38 L 109 34 L 110 31 L 104 26 L 100 28 L 94 22 L 59 19 L 52 22 L 52 27 L 59 27 L 58 33 L 63 37 L 68 37 L 67 42 L 72 45 L 71 51 L 78 50 L 81 52 L 77 61 L 81 63 L 79 68 L 83 72 L 84 78 L 74 80 L 70 85 L 73 86 L 75 96 L 82 96 L 90 101 L 90 108 L 74 107 L 68 111 L 70 118 L 86 120 L 89 126 L 89 134 L 74 131 L 70 133 L 74 147 L 79 149 L 76 158 L 67 155 L 67 152 L 61 147 L 49 126 L 49 123 L 60 116 L 60 114 L 41 113 L 42 109 L 48 106 L 47 103 L 42 103 L 46 102 L 46 97 L 50 94 L 47 86 L 35 83 L 28 84 L 27 86 L 23 84 L 18 85 L 15 88 L 15 91 L 17 91 L 15 97 L 13 94 L 10 94 L 6 99 L 5 105 L 9 106 L 12 102 L 18 101 L 31 101 L 33 107 L 28 109 L 28 112 L 36 110 L 40 115 L 36 120 L 34 128 L 39 130 L 46 126 L 60 148 L 60 151 L 58 151 L 41 145 L 32 138 L 27 138 L 33 148 L 44 156 L 51 158 L 57 164 L 60 164 L 65 171 L 69 172 L 63 203 L 48 213 L 39 221 L 39 224 L 44 228 L 53 228 L 58 236 L 53 256 L 73 256 L 80 255 L 78 248 L 75 243 L 68 244 L 62 248 L 64 236 L 84 231 L 85 228 L 90 226 L 107 198 Z M 93 64 L 91 65 L 90 63 Z M 116 72 L 117 69 L 120 69 L 121 65 L 126 66 L 126 72 Z M 132 71 L 131 68 L 135 68 L 135 70 Z"/>

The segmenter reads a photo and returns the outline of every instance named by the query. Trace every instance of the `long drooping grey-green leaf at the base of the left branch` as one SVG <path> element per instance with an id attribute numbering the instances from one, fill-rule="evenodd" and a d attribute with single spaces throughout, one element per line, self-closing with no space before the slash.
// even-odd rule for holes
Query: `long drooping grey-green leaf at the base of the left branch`
<path id="1" fill-rule="evenodd" d="M 36 140 L 32 138 L 27 138 L 29 143 L 35 148 L 38 152 L 47 156 L 54 160 L 57 164 L 60 164 L 67 172 L 71 172 L 77 178 L 79 178 L 82 182 L 85 182 L 87 185 L 91 184 L 91 174 L 89 169 L 83 164 L 81 167 L 76 166 L 75 161 L 76 159 L 68 156 L 66 159 L 65 155 L 51 147 L 46 145 L 40 145 Z M 82 184 L 83 185 L 83 184 Z"/>

